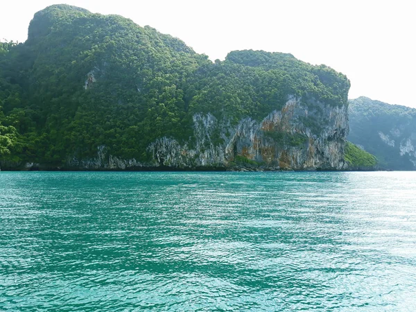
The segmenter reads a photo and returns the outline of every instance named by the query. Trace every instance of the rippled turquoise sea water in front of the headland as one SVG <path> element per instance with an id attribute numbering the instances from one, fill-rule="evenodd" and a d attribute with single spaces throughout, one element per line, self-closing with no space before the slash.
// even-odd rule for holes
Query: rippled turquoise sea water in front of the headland
<path id="1" fill-rule="evenodd" d="M 0 173 L 0 311 L 416 311 L 416 172 Z"/>

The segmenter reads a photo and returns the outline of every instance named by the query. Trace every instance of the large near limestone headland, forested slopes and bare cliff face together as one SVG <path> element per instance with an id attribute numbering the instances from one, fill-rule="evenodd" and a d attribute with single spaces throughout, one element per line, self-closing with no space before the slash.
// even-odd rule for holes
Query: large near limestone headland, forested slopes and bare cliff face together
<path id="1" fill-rule="evenodd" d="M 350 83 L 324 64 L 253 50 L 211 62 L 67 5 L 37 12 L 28 40 L 1 49 L 2 168 L 347 168 Z"/>

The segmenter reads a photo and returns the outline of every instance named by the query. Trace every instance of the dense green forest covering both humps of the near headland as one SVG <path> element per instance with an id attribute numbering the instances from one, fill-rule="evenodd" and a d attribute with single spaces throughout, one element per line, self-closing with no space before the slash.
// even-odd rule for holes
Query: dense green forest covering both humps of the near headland
<path id="1" fill-rule="evenodd" d="M 106 146 L 146 161 L 158 137 L 189 140 L 196 112 L 236 123 L 263 119 L 290 95 L 345 105 L 348 90 L 342 73 L 290 54 L 233 51 L 211 62 L 130 19 L 50 6 L 24 44 L 0 45 L 0 160 L 61 166 Z"/>

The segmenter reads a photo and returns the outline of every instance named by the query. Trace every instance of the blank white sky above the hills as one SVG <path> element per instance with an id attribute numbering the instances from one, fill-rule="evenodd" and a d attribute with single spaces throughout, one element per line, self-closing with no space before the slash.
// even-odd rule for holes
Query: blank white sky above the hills
<path id="1" fill-rule="evenodd" d="M 232 50 L 292 53 L 351 80 L 349 98 L 416 107 L 416 3 L 411 0 L 63 0 L 119 14 L 184 40 L 211 60 Z M 33 14 L 62 1 L 0 0 L 0 40 L 24 42 Z"/>

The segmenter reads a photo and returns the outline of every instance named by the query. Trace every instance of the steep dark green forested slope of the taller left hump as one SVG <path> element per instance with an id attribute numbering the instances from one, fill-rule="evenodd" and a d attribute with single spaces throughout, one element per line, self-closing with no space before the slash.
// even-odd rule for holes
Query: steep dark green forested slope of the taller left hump
<path id="1" fill-rule="evenodd" d="M 207 62 L 153 28 L 71 6 L 38 12 L 26 43 L 12 47 L 6 58 L 2 69 L 10 75 L 2 76 L 19 82 L 24 101 L 3 103 L 3 111 L 19 110 L 34 121 L 24 125 L 33 134 L 31 160 L 56 164 L 70 153 L 96 153 L 103 144 L 115 155 L 132 157 L 132 146 L 146 149 L 138 137 L 151 141 L 155 128 L 180 131 L 184 79 Z M 15 77 L 19 58 L 27 59 L 26 66 Z M 164 122 L 155 127 L 159 115 Z M 27 137 L 26 128 L 20 130 Z"/>

